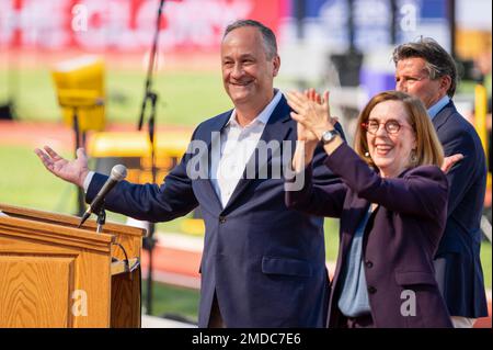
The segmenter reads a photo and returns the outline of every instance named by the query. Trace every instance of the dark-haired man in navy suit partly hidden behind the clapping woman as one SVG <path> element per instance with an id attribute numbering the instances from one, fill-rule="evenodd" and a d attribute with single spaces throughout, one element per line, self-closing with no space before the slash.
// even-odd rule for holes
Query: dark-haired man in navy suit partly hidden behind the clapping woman
<path id="1" fill-rule="evenodd" d="M 435 273 L 456 327 L 472 327 L 488 316 L 480 261 L 480 222 L 486 188 L 486 163 L 473 126 L 451 101 L 456 91 L 454 58 L 435 41 L 422 38 L 393 52 L 395 89 L 413 94 L 428 109 L 445 156 L 465 158 L 448 173 L 447 225 L 435 257 Z"/>

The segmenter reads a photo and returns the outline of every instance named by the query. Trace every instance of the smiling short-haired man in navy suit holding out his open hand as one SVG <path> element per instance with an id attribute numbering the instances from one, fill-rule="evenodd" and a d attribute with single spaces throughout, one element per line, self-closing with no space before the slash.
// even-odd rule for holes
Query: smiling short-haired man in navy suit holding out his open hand
<path id="1" fill-rule="evenodd" d="M 160 187 L 122 181 L 105 201 L 107 210 L 150 222 L 171 221 L 199 206 L 206 226 L 199 327 L 325 325 L 323 218 L 288 210 L 284 179 L 270 170 L 279 151 L 290 163 L 297 139 L 290 109 L 273 87 L 279 65 L 270 29 L 249 20 L 228 26 L 221 66 L 234 109 L 198 125 L 191 151 Z M 268 155 L 262 157 L 261 145 L 270 147 Z M 84 187 L 88 202 L 107 179 L 89 171 L 83 150 L 70 162 L 49 147 L 45 151 L 36 149 L 46 168 Z M 197 161 L 204 156 L 210 161 Z M 319 184 L 337 181 L 324 158 L 319 148 Z M 206 171 L 195 171 L 197 165 L 207 165 Z"/>

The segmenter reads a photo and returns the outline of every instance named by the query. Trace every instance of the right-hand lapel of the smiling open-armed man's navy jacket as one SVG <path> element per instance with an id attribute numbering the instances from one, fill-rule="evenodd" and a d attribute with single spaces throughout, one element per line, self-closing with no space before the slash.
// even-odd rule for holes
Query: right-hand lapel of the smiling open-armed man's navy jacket
<path id="1" fill-rule="evenodd" d="M 246 162 L 243 176 L 238 182 L 225 210 L 230 207 L 238 200 L 241 193 L 248 188 L 248 185 L 259 178 L 260 169 L 268 167 L 273 154 L 274 155 L 279 154 L 280 156 L 280 149 L 278 149 L 278 147 L 282 146 L 283 140 L 287 138 L 287 136 L 291 131 L 291 123 L 288 123 L 290 121 L 289 112 L 290 109 L 286 102 L 286 99 L 283 95 L 280 98 L 279 103 L 277 103 L 277 106 L 275 108 L 273 114 L 268 118 L 268 122 L 265 125 L 262 136 L 260 138 L 260 143 L 261 142 L 265 144 L 271 143 L 273 147 L 270 147 L 270 149 L 272 149 L 273 151 L 270 151 L 266 158 L 259 159 L 257 148 L 255 148 L 249 161 Z M 248 171 L 248 169 L 252 169 L 254 171 Z M 267 169 L 265 168 L 265 170 Z M 252 176 L 253 172 L 254 176 Z"/>

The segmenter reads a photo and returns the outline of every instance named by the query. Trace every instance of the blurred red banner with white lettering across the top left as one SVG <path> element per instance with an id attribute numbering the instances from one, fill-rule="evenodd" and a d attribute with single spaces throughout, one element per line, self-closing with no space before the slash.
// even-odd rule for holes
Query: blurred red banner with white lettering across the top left
<path id="1" fill-rule="evenodd" d="M 286 0 L 165 1 L 160 48 L 216 50 L 237 19 L 277 32 Z M 1 0 L 0 46 L 88 52 L 138 52 L 150 46 L 159 0 Z"/>

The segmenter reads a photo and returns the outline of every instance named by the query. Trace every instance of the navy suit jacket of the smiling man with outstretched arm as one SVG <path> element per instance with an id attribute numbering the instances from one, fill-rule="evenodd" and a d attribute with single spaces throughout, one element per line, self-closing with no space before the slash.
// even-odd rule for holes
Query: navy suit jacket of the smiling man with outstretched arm
<path id="1" fill-rule="evenodd" d="M 290 142 L 290 161 L 297 128 L 289 112 L 283 97 L 261 139 Z M 230 115 L 231 111 L 203 122 L 193 140 L 210 145 L 211 133 L 219 133 Z M 222 207 L 208 179 L 187 176 L 193 156 L 185 154 L 160 187 L 122 181 L 106 197 L 106 207 L 138 219 L 165 222 L 199 206 L 206 227 L 199 327 L 208 325 L 215 293 L 228 327 L 323 327 L 329 300 L 323 218 L 288 210 L 284 179 L 271 176 L 241 179 Z M 318 184 L 337 181 L 323 166 L 325 157 L 319 148 L 314 161 Z M 105 181 L 106 177 L 94 176 L 88 202 Z"/>

